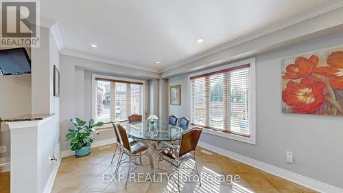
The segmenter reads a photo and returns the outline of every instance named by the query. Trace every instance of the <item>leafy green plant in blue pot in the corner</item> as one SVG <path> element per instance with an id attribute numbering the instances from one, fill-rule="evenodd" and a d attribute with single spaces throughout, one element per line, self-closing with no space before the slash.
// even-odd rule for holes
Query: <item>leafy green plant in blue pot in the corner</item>
<path id="1" fill-rule="evenodd" d="M 76 157 L 84 157 L 91 153 L 91 144 L 94 141 L 92 133 L 99 135 L 99 131 L 94 129 L 95 126 L 103 126 L 103 122 L 94 124 L 94 120 L 90 120 L 88 125 L 85 121 L 80 120 L 78 117 L 70 120 L 74 124 L 74 128 L 68 129 L 67 141 L 70 139 L 71 150 L 75 151 Z"/>

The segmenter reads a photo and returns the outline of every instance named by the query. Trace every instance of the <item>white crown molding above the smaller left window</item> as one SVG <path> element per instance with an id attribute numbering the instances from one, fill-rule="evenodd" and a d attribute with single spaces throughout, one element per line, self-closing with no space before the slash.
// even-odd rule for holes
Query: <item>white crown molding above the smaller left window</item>
<path id="1" fill-rule="evenodd" d="M 144 71 L 150 71 L 150 72 L 155 72 L 155 73 L 160 73 L 160 71 L 158 71 L 158 69 L 153 69 L 150 67 L 143 67 L 140 65 L 134 65 L 132 63 L 124 63 L 118 60 L 113 60 L 110 58 L 104 58 L 101 56 L 93 56 L 91 54 L 84 54 L 82 52 L 75 52 L 75 51 L 71 51 L 69 49 L 61 49 L 60 50 L 60 54 L 63 55 L 67 55 L 67 56 L 73 56 L 76 58 L 83 58 L 83 59 L 87 59 L 87 60 L 93 60 L 93 61 L 97 61 L 100 63 L 108 63 L 108 64 L 112 64 L 112 65 L 119 65 L 122 67 L 130 67 L 132 69 L 140 69 L 140 70 L 144 70 Z"/>

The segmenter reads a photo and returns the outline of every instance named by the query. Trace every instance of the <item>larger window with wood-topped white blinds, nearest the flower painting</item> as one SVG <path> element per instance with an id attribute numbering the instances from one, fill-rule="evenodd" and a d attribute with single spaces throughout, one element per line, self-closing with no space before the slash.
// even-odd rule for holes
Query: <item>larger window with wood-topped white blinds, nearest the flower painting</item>
<path id="1" fill-rule="evenodd" d="M 190 77 L 195 126 L 250 137 L 250 64 Z"/>

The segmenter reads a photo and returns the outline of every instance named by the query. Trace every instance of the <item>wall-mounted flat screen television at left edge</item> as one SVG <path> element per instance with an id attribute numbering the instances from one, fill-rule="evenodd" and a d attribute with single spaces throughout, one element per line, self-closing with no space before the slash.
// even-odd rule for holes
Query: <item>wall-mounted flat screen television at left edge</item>
<path id="1" fill-rule="evenodd" d="M 31 59 L 25 48 L 0 50 L 0 75 L 31 73 Z"/>

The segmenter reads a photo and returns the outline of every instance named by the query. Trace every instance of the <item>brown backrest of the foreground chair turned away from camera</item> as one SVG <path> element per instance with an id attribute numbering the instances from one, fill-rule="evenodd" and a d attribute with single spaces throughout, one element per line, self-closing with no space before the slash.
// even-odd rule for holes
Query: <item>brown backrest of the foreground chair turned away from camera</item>
<path id="1" fill-rule="evenodd" d="M 182 134 L 180 141 L 180 152 L 179 157 L 187 154 L 187 152 L 195 151 L 196 146 L 202 132 L 202 128 L 192 128 L 191 130 Z"/>

